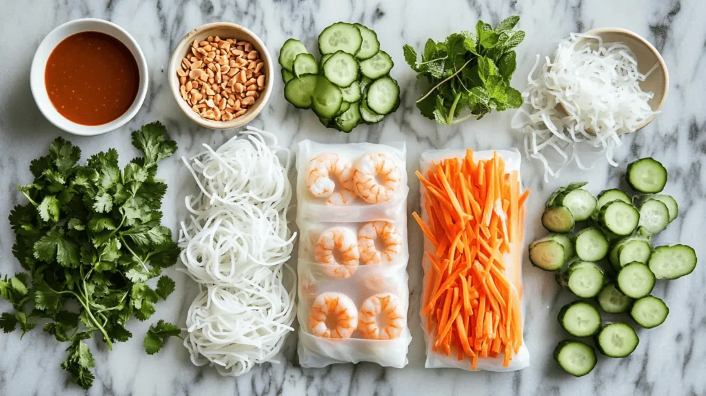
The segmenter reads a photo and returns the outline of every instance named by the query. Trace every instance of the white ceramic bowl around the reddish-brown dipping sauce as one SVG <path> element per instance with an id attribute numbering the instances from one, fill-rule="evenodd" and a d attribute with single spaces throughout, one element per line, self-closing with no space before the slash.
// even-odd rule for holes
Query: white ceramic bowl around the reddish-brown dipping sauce
<path id="1" fill-rule="evenodd" d="M 64 118 L 56 111 L 52 101 L 49 100 L 46 85 L 44 85 L 44 69 L 47 67 L 47 59 L 52 51 L 66 37 L 75 35 L 80 32 L 101 32 L 115 37 L 117 40 L 125 44 L 135 57 L 138 71 L 140 72 L 140 85 L 138 87 L 137 96 L 127 112 L 119 116 L 117 119 L 102 125 L 81 125 Z M 71 20 L 55 28 L 44 40 L 35 52 L 35 57 L 32 59 L 32 68 L 30 70 L 30 88 L 32 96 L 35 97 L 37 107 L 47 119 L 55 126 L 63 129 L 68 133 L 80 136 L 95 136 L 109 131 L 113 131 L 123 126 L 127 121 L 130 121 L 137 114 L 142 103 L 147 95 L 148 87 L 147 61 L 142 53 L 140 46 L 135 39 L 118 25 L 108 22 L 107 20 L 83 18 Z"/>

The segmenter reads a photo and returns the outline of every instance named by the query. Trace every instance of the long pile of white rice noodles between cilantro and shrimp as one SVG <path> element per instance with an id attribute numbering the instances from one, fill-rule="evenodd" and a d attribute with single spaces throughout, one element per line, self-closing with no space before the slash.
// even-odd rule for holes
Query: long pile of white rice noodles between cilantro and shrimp
<path id="1" fill-rule="evenodd" d="M 196 366 L 239 376 L 254 364 L 276 362 L 293 330 L 297 282 L 287 265 L 296 236 L 287 228 L 292 157 L 271 133 L 251 127 L 217 150 L 203 147 L 183 158 L 201 189 L 186 197 L 191 216 L 179 236 L 185 272 L 201 289 L 186 318 L 184 346 Z M 289 289 L 284 269 L 292 275 Z"/>

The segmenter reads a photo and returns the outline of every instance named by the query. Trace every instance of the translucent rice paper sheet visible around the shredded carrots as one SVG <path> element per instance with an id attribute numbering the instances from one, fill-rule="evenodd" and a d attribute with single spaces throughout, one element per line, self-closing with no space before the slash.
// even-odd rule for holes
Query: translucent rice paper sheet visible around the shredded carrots
<path id="1" fill-rule="evenodd" d="M 508 172 L 512 171 L 517 171 L 518 176 L 520 173 L 520 152 L 517 150 L 486 150 L 486 151 L 476 151 L 473 152 L 473 159 L 474 161 L 478 160 L 489 160 L 493 157 L 493 151 L 498 153 L 498 156 L 501 157 L 505 161 L 505 173 L 507 174 Z M 429 171 L 429 168 L 432 166 L 433 163 L 441 162 L 442 160 L 446 160 L 448 158 L 458 158 L 459 160 L 463 159 L 466 155 L 466 150 L 426 150 L 425 152 L 421 153 L 421 157 L 419 159 L 419 165 L 421 169 L 421 173 L 426 176 L 426 172 Z M 520 181 L 520 193 L 522 192 L 522 179 L 521 177 L 518 177 L 518 180 Z M 429 220 L 428 214 L 426 213 L 426 207 L 425 207 L 425 194 L 426 194 L 426 188 L 424 188 L 424 184 L 420 184 L 420 193 L 421 193 L 421 219 L 426 223 Z M 524 210 L 520 212 L 520 216 L 524 217 L 525 212 Z M 524 235 L 524 230 L 522 232 Z M 510 253 L 505 254 L 503 257 L 503 262 L 505 263 L 505 272 L 508 277 L 508 282 L 510 282 L 510 285 L 515 289 L 515 291 L 519 292 L 520 296 L 520 304 L 522 306 L 522 328 L 524 328 L 525 324 L 525 304 L 522 304 L 522 301 L 524 299 L 522 298 L 522 257 L 523 257 L 523 246 L 524 246 L 524 241 L 522 239 L 517 240 L 513 242 L 510 246 Z M 429 241 L 429 239 L 426 239 L 424 237 L 424 251 L 427 252 L 433 252 L 434 248 Z M 423 292 L 422 292 L 422 305 L 424 304 L 424 298 L 428 292 L 427 288 L 429 285 L 429 281 L 431 280 L 433 264 L 431 263 L 431 260 L 426 256 L 426 253 L 424 254 L 422 258 L 422 268 L 424 268 L 424 287 L 423 287 Z M 462 370 L 468 370 L 471 371 L 471 364 L 469 362 L 469 359 L 467 359 L 467 356 L 464 356 L 465 359 L 458 360 L 456 357 L 455 353 L 451 353 L 450 356 L 446 356 L 446 354 L 441 354 L 439 352 L 436 352 L 433 350 L 433 342 L 436 342 L 435 339 L 432 339 L 432 336 L 429 335 L 427 332 L 427 320 L 426 320 L 426 315 L 421 314 L 421 310 L 419 312 L 419 316 L 421 317 L 421 328 L 422 328 L 422 333 L 424 334 L 424 343 L 426 344 L 426 361 L 424 363 L 424 367 L 426 368 L 460 368 Z M 505 371 L 517 371 L 521 370 L 522 368 L 530 366 L 530 352 L 527 350 L 527 346 L 525 345 L 525 340 L 522 338 L 522 346 L 520 347 L 519 351 L 517 354 L 512 356 L 512 360 L 510 360 L 510 363 L 508 364 L 508 367 L 503 367 L 503 360 L 504 360 L 504 354 L 498 354 L 496 357 L 484 357 L 484 358 L 479 358 L 478 359 L 478 364 L 476 367 L 477 371 L 498 371 L 498 372 L 505 372 Z"/>

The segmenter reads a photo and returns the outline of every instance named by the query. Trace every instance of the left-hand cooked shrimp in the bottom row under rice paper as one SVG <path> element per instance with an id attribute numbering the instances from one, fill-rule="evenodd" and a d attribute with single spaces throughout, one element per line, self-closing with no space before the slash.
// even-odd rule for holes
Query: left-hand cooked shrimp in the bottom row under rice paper
<path id="1" fill-rule="evenodd" d="M 311 334 L 325 338 L 350 338 L 358 327 L 358 311 L 345 294 L 319 294 L 309 313 Z"/>

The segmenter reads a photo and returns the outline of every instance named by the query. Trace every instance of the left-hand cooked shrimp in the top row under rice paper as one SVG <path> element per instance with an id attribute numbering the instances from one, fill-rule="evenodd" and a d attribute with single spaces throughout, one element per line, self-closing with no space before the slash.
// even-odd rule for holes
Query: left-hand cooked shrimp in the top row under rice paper
<path id="1" fill-rule="evenodd" d="M 320 154 L 309 161 L 306 188 L 316 198 L 328 198 L 327 205 L 347 205 L 355 200 L 353 168 L 337 154 Z"/>

